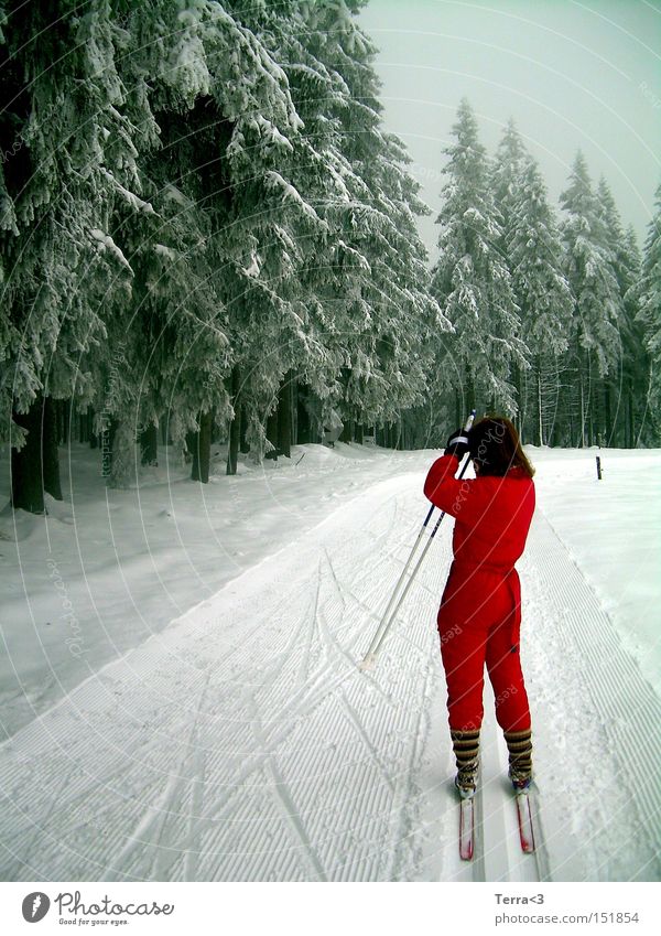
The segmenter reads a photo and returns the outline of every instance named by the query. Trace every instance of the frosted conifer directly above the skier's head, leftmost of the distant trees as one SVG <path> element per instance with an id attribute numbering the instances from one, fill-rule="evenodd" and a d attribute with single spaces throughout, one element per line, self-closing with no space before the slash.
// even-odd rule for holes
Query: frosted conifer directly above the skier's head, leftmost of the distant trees
<path id="1" fill-rule="evenodd" d="M 517 412 L 512 366 L 527 367 L 527 348 L 511 277 L 501 250 L 501 218 L 490 190 L 486 150 L 464 98 L 453 127 L 455 142 L 443 172 L 444 204 L 437 218 L 440 257 L 432 292 L 455 329 L 444 366 L 456 387 L 456 418 L 477 400 Z M 484 401 L 484 404 L 483 404 Z"/>

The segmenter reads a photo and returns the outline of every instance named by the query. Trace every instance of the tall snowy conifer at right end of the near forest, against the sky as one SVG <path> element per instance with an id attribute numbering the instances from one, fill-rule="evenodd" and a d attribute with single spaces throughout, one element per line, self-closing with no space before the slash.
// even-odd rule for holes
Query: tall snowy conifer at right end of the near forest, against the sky
<path id="1" fill-rule="evenodd" d="M 346 342 L 337 407 L 345 422 L 372 424 L 398 420 L 422 399 L 425 338 L 449 326 L 430 298 L 415 225 L 429 209 L 407 171 L 403 144 L 382 130 L 376 50 L 355 21 L 361 6 L 314 4 L 308 42 L 338 89 L 327 115 L 346 192 L 329 217 L 337 250 L 329 299 Z"/>

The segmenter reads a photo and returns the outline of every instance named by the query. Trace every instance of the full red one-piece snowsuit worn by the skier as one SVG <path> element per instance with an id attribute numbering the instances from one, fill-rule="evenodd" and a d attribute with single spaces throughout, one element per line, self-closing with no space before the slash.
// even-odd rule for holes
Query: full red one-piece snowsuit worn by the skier
<path id="1" fill-rule="evenodd" d="M 530 728 L 519 657 L 521 584 L 514 562 L 534 512 L 534 484 L 519 467 L 505 477 L 454 477 L 455 455 L 437 459 L 425 496 L 455 517 L 454 561 L 438 610 L 451 729 L 481 725 L 485 661 L 505 731 Z"/>

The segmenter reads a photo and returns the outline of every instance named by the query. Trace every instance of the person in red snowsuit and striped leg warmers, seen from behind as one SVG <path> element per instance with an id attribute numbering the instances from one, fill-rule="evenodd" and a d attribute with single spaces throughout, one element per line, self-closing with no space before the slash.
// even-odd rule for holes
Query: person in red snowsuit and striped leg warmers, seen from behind
<path id="1" fill-rule="evenodd" d="M 476 477 L 455 478 L 466 453 Z M 432 504 L 455 518 L 454 560 L 437 625 L 462 798 L 475 793 L 485 663 L 514 792 L 527 790 L 532 778 L 531 719 L 519 655 L 521 587 L 514 562 L 534 513 L 533 474 L 510 420 L 494 416 L 467 433 L 453 432 L 424 483 Z"/>

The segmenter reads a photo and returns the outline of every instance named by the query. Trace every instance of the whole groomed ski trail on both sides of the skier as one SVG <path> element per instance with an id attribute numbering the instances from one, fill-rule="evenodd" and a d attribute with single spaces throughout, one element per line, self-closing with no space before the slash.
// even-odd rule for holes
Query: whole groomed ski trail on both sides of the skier
<path id="1" fill-rule="evenodd" d="M 371 487 L 4 743 L 0 878 L 658 879 L 659 699 L 541 509 L 519 566 L 538 850 L 519 846 L 487 688 L 460 861 L 434 627 L 451 518 L 377 666 L 357 667 L 421 486 Z"/>

